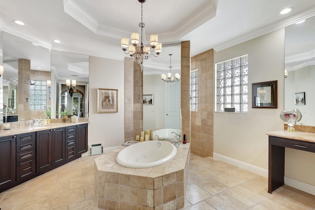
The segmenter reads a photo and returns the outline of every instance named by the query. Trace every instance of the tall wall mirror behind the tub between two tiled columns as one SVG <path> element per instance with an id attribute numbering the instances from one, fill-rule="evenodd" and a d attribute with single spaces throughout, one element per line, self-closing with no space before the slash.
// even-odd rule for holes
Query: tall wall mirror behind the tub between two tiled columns
<path id="1" fill-rule="evenodd" d="M 172 54 L 170 57 L 169 54 Z M 158 64 L 155 63 L 157 60 Z M 152 67 L 143 69 L 143 95 L 148 95 L 153 104 L 143 105 L 143 129 L 181 129 L 180 101 L 181 82 L 169 86 L 161 80 L 161 74 L 181 73 L 181 44 L 163 45 L 163 53 L 150 62 Z M 145 96 L 144 96 L 145 97 Z"/>

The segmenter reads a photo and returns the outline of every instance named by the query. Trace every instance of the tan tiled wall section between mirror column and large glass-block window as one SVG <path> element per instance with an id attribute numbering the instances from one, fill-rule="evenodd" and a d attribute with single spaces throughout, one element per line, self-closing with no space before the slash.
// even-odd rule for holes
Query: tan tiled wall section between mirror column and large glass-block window
<path id="1" fill-rule="evenodd" d="M 191 70 L 198 69 L 198 111 L 191 112 L 191 153 L 213 157 L 214 51 L 191 58 Z"/>

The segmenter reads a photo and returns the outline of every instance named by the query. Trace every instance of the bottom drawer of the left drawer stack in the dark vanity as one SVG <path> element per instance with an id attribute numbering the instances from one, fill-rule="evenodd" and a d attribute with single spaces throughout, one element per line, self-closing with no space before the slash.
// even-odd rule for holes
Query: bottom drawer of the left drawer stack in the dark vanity
<path id="1" fill-rule="evenodd" d="M 26 181 L 32 179 L 36 172 L 35 157 L 16 164 L 16 180 Z"/>

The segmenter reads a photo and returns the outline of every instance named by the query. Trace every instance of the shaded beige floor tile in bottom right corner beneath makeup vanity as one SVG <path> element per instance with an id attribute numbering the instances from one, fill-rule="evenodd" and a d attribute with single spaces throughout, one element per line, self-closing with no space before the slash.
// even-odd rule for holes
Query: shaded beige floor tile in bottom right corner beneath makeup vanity
<path id="1" fill-rule="evenodd" d="M 274 194 L 274 193 L 273 193 Z M 315 196 L 303 192 L 301 190 L 284 186 L 282 190 L 276 192 L 275 195 L 280 196 L 292 203 L 298 204 L 306 209 L 315 208 Z"/>

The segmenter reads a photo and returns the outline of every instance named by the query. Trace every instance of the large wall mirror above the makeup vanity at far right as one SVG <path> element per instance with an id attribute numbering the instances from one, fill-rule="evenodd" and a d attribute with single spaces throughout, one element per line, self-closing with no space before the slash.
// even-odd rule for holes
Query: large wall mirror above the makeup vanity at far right
<path id="1" fill-rule="evenodd" d="M 297 124 L 315 126 L 315 17 L 285 28 L 284 108 L 298 109 Z"/>

